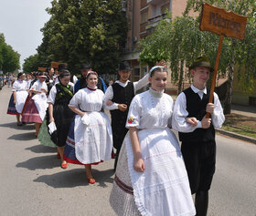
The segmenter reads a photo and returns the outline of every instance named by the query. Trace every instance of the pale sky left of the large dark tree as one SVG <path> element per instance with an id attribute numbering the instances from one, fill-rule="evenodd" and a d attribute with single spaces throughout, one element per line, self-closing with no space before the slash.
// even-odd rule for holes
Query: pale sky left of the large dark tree
<path id="1" fill-rule="evenodd" d="M 20 64 L 30 55 L 37 53 L 41 44 L 40 28 L 48 21 L 46 8 L 51 0 L 0 0 L 0 33 L 13 46 L 20 57 Z"/>

